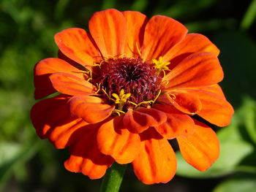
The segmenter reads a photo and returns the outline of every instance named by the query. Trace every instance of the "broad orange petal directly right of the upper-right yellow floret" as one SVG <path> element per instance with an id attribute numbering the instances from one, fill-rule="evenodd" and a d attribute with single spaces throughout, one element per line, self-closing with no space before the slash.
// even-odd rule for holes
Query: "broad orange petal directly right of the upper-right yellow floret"
<path id="1" fill-rule="evenodd" d="M 213 85 L 223 79 L 222 66 L 212 53 L 194 53 L 166 75 L 166 89 Z"/>

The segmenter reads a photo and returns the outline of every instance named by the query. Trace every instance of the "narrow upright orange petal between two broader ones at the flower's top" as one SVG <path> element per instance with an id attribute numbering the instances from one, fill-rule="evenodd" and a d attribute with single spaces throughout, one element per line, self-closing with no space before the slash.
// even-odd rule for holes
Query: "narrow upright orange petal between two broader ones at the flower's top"
<path id="1" fill-rule="evenodd" d="M 138 49 L 143 44 L 143 37 L 148 18 L 140 12 L 125 11 L 122 12 L 127 20 L 127 42 L 124 47 L 124 53 L 127 57 L 138 57 Z M 136 46 L 137 44 L 137 46 Z"/>

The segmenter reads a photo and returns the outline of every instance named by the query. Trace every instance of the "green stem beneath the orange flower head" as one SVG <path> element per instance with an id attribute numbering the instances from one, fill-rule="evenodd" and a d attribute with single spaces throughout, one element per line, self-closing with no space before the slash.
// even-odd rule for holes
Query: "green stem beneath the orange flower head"
<path id="1" fill-rule="evenodd" d="M 115 162 L 105 174 L 100 186 L 100 192 L 118 192 L 126 168 L 126 164 L 121 165 Z"/>

